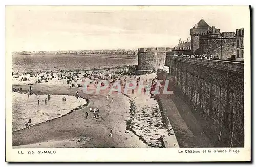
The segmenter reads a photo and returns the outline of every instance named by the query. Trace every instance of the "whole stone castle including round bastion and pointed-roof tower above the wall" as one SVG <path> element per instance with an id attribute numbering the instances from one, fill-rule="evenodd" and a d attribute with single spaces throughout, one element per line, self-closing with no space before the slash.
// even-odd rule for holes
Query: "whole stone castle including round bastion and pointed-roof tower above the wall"
<path id="1" fill-rule="evenodd" d="M 201 19 L 190 29 L 190 38 L 181 41 L 173 48 L 139 48 L 139 71 L 157 70 L 165 65 L 166 55 L 215 55 L 220 59 L 243 61 L 244 29 L 236 32 L 222 32 L 215 26 L 209 26 Z"/>

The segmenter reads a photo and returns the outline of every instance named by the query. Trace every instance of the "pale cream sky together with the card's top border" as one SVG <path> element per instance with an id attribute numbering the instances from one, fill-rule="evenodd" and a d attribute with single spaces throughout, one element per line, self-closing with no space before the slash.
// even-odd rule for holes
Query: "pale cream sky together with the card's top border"
<path id="1" fill-rule="evenodd" d="M 174 47 L 204 19 L 223 31 L 245 27 L 246 6 L 7 6 L 11 51 Z M 246 32 L 246 30 L 245 30 Z"/>

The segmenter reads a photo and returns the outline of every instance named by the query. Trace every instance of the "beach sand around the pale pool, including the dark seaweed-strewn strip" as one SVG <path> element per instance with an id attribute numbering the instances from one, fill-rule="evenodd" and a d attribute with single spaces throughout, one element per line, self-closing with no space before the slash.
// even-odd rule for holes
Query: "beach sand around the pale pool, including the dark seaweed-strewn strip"
<path id="1" fill-rule="evenodd" d="M 56 76 L 57 73 L 53 75 Z M 121 76 L 121 79 L 124 76 Z M 146 78 L 154 78 L 155 76 L 155 74 L 144 75 Z M 139 77 L 143 78 L 143 76 Z M 109 95 L 109 99 L 113 98 L 114 103 L 112 104 L 110 100 L 106 100 L 108 92 L 86 94 L 82 91 L 82 87 L 70 88 L 69 84 L 63 81 L 65 79 L 54 79 L 56 80 L 49 80 L 47 83 L 33 84 L 32 93 L 35 95 L 74 96 L 75 92 L 78 91 L 79 97 L 88 99 L 88 105 L 73 110 L 62 117 L 35 124 L 30 129 L 25 128 L 14 131 L 13 148 L 147 148 L 179 146 L 172 128 L 166 128 L 161 119 L 162 112 L 156 100 L 150 98 L 150 95 L 142 94 L 141 96 L 143 97 L 138 98 L 136 91 L 134 94 L 130 91 L 125 95 L 123 93 L 113 93 Z M 26 81 L 25 83 L 23 81 L 16 82 L 13 88 L 19 89 L 21 92 L 28 92 L 30 85 L 26 83 Z M 145 106 L 149 108 L 145 109 Z M 99 108 L 98 119 L 93 118 L 93 113 L 89 112 L 90 108 Z M 87 118 L 85 118 L 86 111 L 89 114 Z M 148 117 L 148 115 L 152 114 L 154 116 Z M 142 126 L 138 128 L 137 125 L 139 124 Z M 109 136 L 110 128 L 113 129 L 112 137 Z M 163 135 L 162 139 L 160 139 L 161 135 Z"/>

